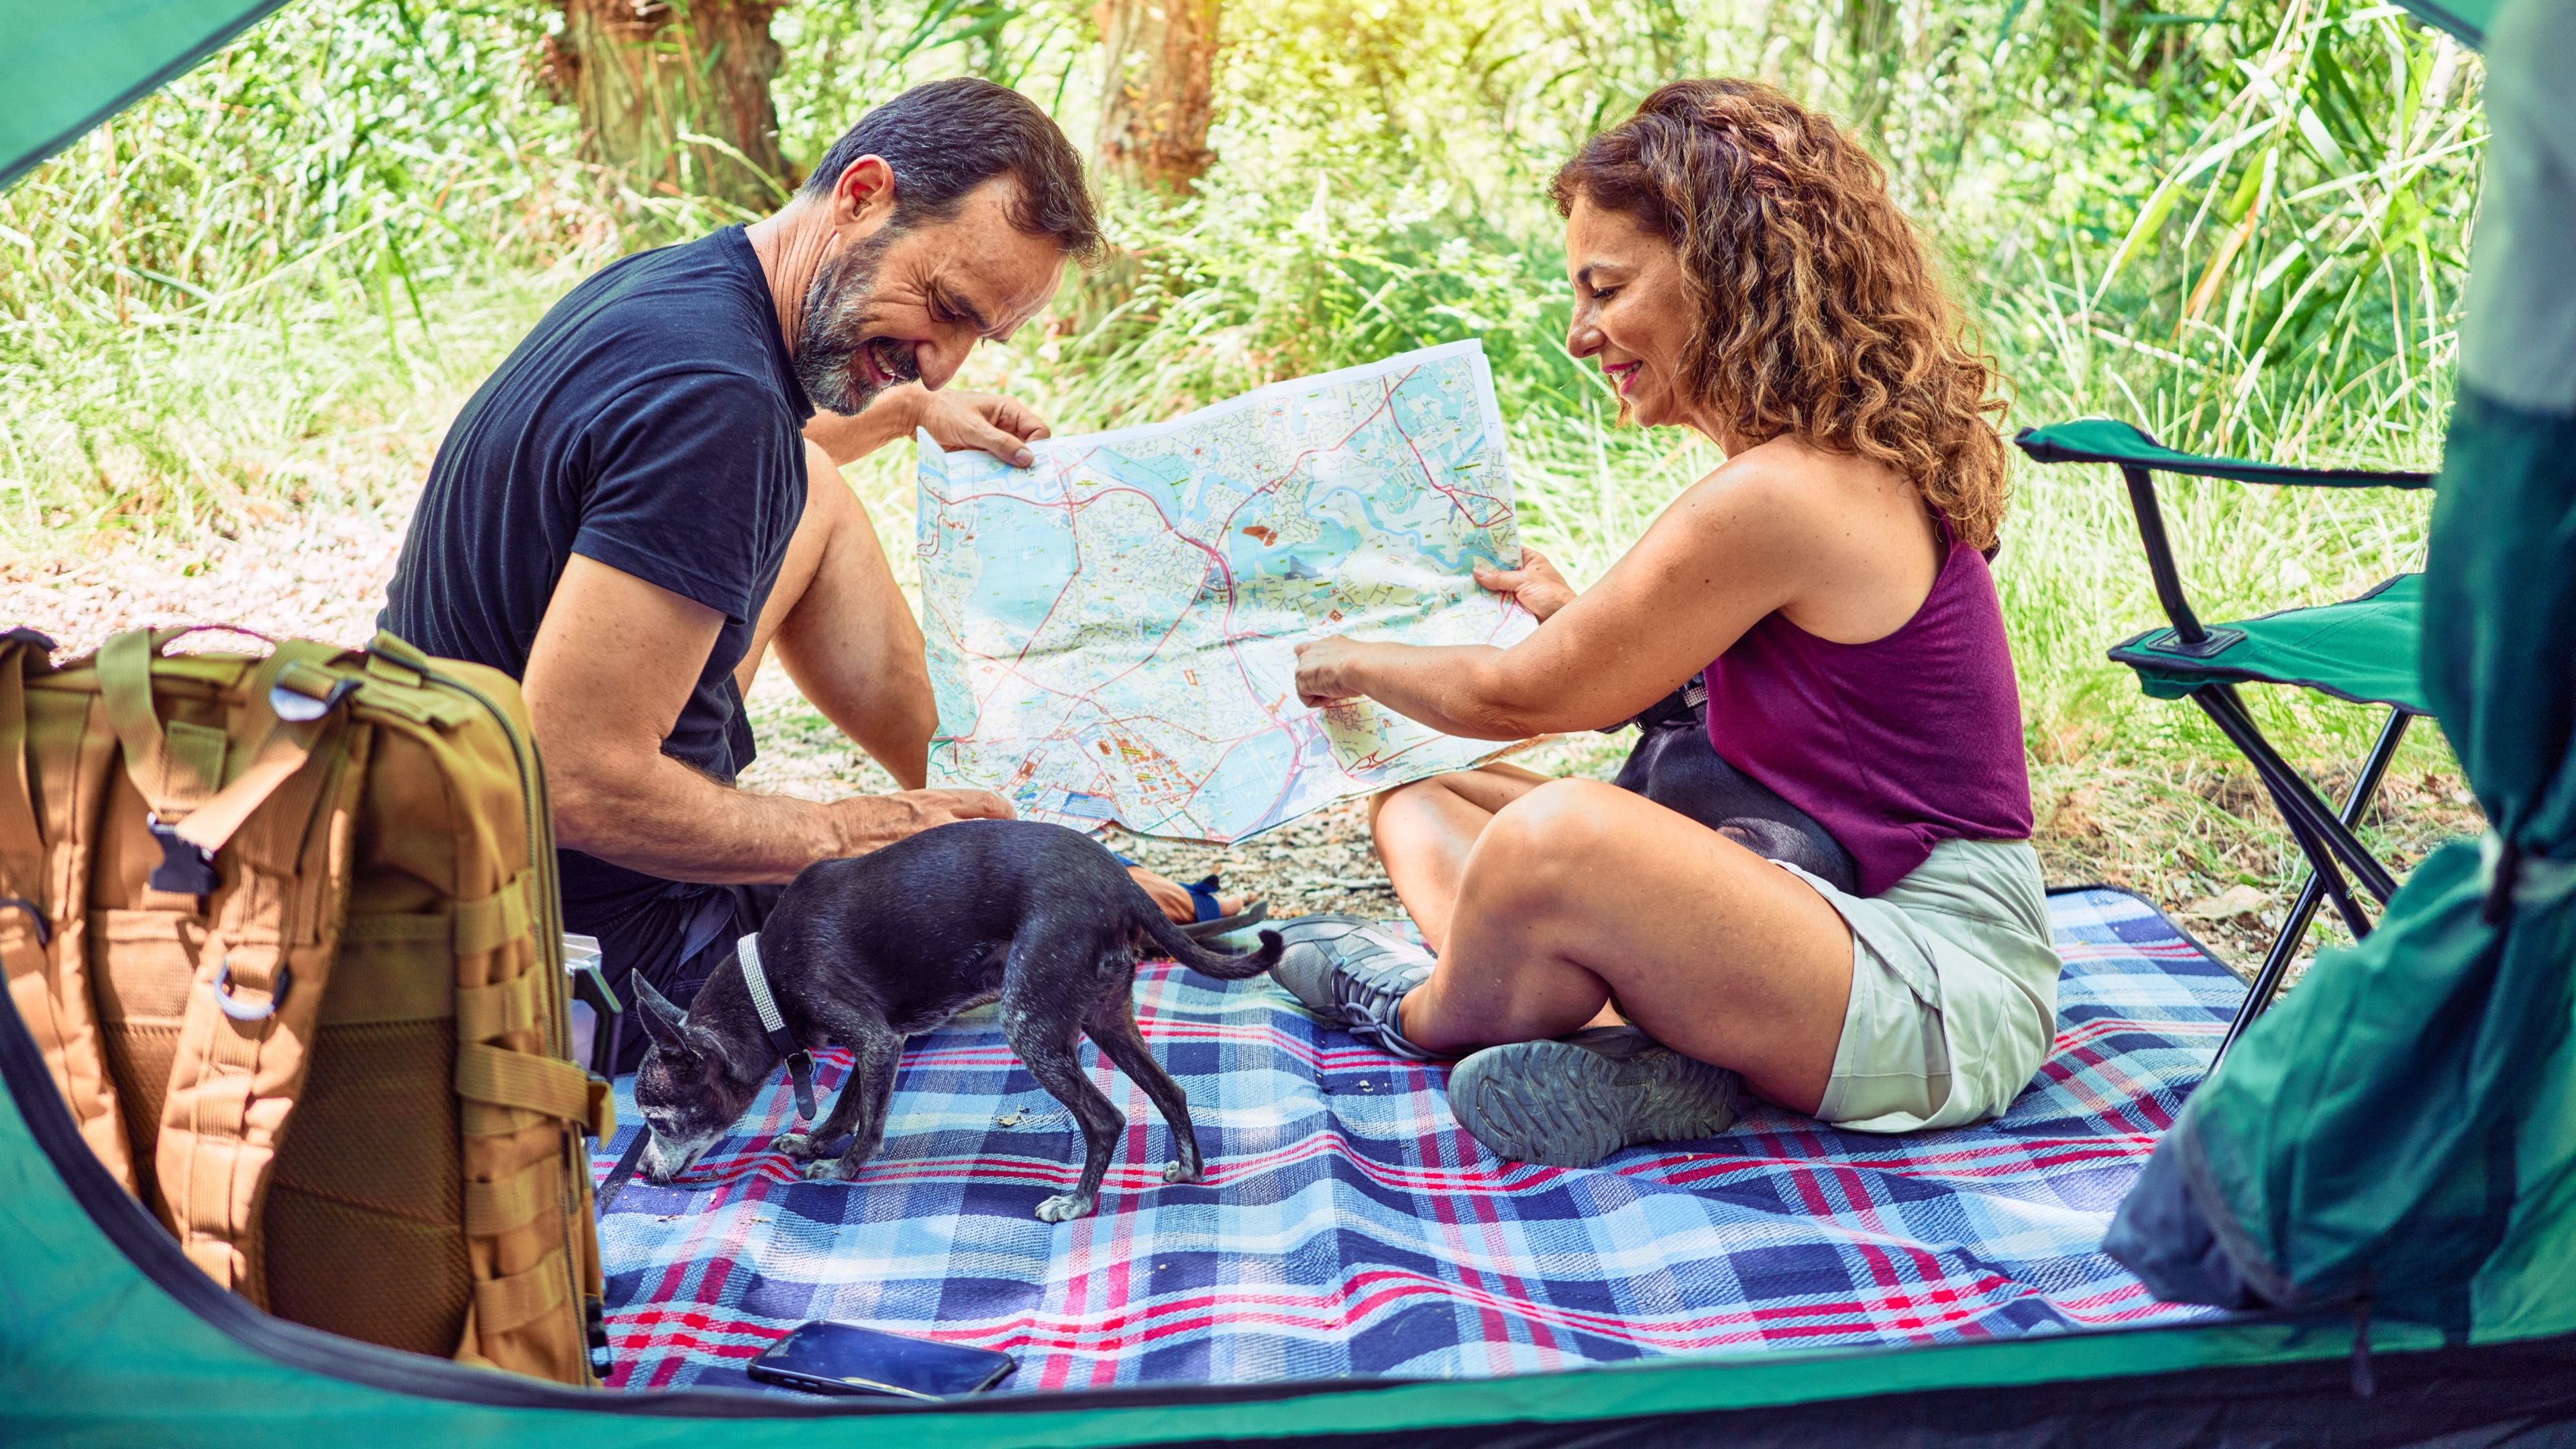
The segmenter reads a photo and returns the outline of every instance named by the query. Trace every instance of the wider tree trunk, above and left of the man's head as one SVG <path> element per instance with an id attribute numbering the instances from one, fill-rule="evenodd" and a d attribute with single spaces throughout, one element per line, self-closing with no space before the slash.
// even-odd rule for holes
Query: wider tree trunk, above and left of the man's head
<path id="1" fill-rule="evenodd" d="M 762 0 L 559 0 L 549 64 L 582 111 L 582 149 L 631 185 L 752 211 L 786 201 L 778 41 Z M 719 144 L 685 142 L 683 134 Z"/>

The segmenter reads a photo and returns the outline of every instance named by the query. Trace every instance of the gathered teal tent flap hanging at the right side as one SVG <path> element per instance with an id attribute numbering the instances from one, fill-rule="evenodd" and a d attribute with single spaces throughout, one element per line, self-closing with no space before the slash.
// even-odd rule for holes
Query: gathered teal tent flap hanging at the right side
<path id="1" fill-rule="evenodd" d="M 2576 188 L 2576 10 L 2519 0 L 2488 72 L 2491 237 Z M 2506 170 L 2512 165 L 2514 170 Z M 2576 286 L 2561 245 L 2504 252 Z M 2486 278 L 2494 281 L 2494 278 Z M 2473 309 L 2468 329 L 2519 327 Z M 2568 314 L 2576 327 L 2576 314 Z M 2517 332 L 2517 337 L 2537 337 Z M 2576 332 L 2545 342 L 2576 342 Z M 2488 1341 L 2576 1325 L 2576 347 L 2463 383 L 2424 571 L 2424 695 L 2494 829 L 2414 870 L 2228 1055 L 2107 1243 L 2161 1297 L 2370 1305 Z"/>

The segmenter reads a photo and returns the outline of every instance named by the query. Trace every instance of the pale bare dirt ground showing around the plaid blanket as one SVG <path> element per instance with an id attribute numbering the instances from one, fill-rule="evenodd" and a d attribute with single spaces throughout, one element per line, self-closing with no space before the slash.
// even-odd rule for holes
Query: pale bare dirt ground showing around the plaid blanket
<path id="1" fill-rule="evenodd" d="M 404 512 L 314 510 L 204 546 L 121 543 L 88 558 L 0 561 L 0 625 L 44 631 L 64 649 L 62 656 L 147 623 L 237 623 L 270 636 L 366 643 L 402 551 Z M 224 638 L 206 636 L 206 646 L 224 646 Z M 744 788 L 806 798 L 891 788 L 775 664 L 762 669 L 750 705 L 760 759 L 744 772 Z M 1556 739 L 1520 762 L 1548 775 L 1607 780 L 1625 749 L 1623 736 Z M 2321 785 L 2336 798 L 2347 782 L 2349 770 L 2321 772 Z M 2295 862 L 2282 852 L 2285 836 L 2251 772 L 2221 764 L 2040 764 L 2032 795 L 2050 885 L 2128 885 L 2236 970 L 2262 960 L 2295 893 Z M 2367 821 L 2367 836 L 2398 865 L 2414 865 L 2442 839 L 2478 829 L 2476 803 L 2447 770 L 2391 777 Z M 1213 870 L 1226 891 L 1267 898 L 1273 916 L 1399 914 L 1368 844 L 1363 800 L 1234 847 L 1126 834 L 1113 834 L 1110 844 L 1175 880 Z M 2313 939 L 2342 939 L 2342 927 L 2321 927 Z"/>

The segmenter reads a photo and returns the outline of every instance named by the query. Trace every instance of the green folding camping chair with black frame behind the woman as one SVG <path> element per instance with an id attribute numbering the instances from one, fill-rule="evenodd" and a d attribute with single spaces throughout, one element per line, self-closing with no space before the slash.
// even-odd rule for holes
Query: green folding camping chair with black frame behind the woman
<path id="1" fill-rule="evenodd" d="M 2156 471 L 2190 474 L 2197 479 L 2233 479 L 2239 484 L 2293 484 L 2326 489 L 2421 489 L 2432 474 L 2367 474 L 2354 468 L 2282 468 L 2275 463 L 2246 463 L 2241 458 L 2200 458 L 2164 448 L 2128 422 L 2087 417 L 2056 427 L 2025 427 L 2017 438 L 2022 453 L 2038 463 L 2110 463 L 2128 479 L 2128 502 L 2138 515 L 2138 540 L 2146 543 L 2146 566 L 2156 579 L 2156 602 L 2172 628 L 2151 628 L 2112 646 L 2110 656 L 2138 672 L 2148 695 L 2161 700 L 2190 697 L 2200 705 L 2221 734 L 2244 752 L 2262 777 L 2272 806 L 2308 857 L 2308 883 L 2290 906 L 2272 952 L 2246 991 L 2236 1022 L 2218 1042 L 2223 1058 L 2236 1037 L 2254 1024 L 2280 993 L 2290 957 L 2308 934 L 2321 898 L 2331 898 L 2336 914 L 2352 927 L 2354 939 L 2370 934 L 2370 916 L 2352 896 L 2360 880 L 2380 906 L 2396 896 L 2396 878 L 2370 849 L 2354 839 L 2352 826 L 2370 808 L 2388 762 L 2396 759 L 2406 726 L 2416 715 L 2432 713 L 2424 700 L 2424 682 L 2416 669 L 2416 633 L 2424 613 L 2424 577 L 2398 574 L 2385 584 L 2344 600 L 2339 605 L 2285 610 L 2233 623 L 2205 625 L 2182 595 L 2182 571 L 2174 564 L 2174 546 L 2164 533 L 2164 510 L 2156 504 Z M 2380 726 L 2378 744 L 2362 762 L 2344 808 L 2334 811 L 2308 780 L 2272 749 L 2272 741 L 2254 726 L 2254 715 L 2236 697 L 2239 682 L 2298 685 L 2357 705 L 2388 705 L 2388 723 Z M 2215 1060 L 2213 1060 L 2215 1066 Z"/>

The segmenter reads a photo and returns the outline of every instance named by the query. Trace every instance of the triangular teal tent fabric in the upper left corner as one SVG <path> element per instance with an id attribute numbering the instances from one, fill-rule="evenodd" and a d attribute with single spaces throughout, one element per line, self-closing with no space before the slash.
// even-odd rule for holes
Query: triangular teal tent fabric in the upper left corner
<path id="1" fill-rule="evenodd" d="M 283 0 L 10 0 L 0 188 L 183 75 Z"/>

